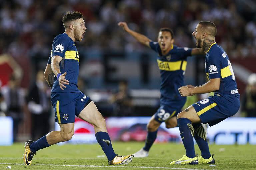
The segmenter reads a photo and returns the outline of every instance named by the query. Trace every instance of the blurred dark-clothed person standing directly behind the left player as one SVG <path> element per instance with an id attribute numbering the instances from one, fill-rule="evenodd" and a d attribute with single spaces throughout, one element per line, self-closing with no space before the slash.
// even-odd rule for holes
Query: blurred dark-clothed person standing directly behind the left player
<path id="1" fill-rule="evenodd" d="M 31 136 L 36 140 L 49 132 L 50 88 L 44 79 L 44 71 L 36 75 L 36 82 L 29 89 L 28 109 L 31 112 Z"/>

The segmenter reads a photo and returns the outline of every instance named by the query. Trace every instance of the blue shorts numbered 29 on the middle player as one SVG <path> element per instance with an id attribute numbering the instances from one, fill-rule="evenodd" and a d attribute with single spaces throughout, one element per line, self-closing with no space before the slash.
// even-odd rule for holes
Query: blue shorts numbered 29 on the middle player
<path id="1" fill-rule="evenodd" d="M 173 107 L 173 104 L 161 104 L 159 109 L 154 114 L 155 120 L 159 123 L 162 123 L 168 121 L 170 118 L 174 116 L 177 116 L 178 113 L 181 112 L 181 109 L 184 106 L 185 102 L 182 101 L 182 104 L 179 106 L 175 105 L 177 107 Z"/>

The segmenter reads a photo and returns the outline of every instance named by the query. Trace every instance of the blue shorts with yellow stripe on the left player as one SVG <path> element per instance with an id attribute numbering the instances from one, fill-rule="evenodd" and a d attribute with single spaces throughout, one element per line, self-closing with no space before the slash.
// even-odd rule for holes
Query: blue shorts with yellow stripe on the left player
<path id="1" fill-rule="evenodd" d="M 91 102 L 91 99 L 80 93 L 51 93 L 51 103 L 55 112 L 55 122 L 67 124 L 75 122 L 75 116 Z"/>

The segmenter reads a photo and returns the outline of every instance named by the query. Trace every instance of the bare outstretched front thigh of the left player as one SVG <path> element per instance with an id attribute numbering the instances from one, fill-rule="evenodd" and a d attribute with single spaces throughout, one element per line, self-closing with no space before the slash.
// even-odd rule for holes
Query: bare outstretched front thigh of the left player
<path id="1" fill-rule="evenodd" d="M 97 109 L 96 105 L 91 101 L 78 115 L 79 118 L 92 124 L 95 127 L 105 126 L 105 119 Z"/>

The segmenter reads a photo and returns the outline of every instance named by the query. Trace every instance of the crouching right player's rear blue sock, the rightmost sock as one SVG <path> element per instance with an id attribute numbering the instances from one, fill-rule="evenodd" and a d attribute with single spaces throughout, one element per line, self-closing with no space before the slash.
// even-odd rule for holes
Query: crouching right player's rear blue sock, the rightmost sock
<path id="1" fill-rule="evenodd" d="M 210 154 L 209 146 L 207 143 L 205 129 L 201 123 L 192 124 L 192 125 L 195 130 L 194 138 L 196 140 L 196 143 L 199 149 L 201 150 L 202 157 L 204 159 L 209 159 L 211 157 L 211 154 Z"/>

